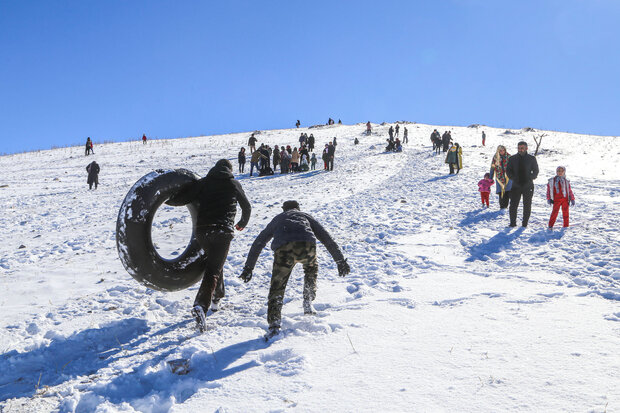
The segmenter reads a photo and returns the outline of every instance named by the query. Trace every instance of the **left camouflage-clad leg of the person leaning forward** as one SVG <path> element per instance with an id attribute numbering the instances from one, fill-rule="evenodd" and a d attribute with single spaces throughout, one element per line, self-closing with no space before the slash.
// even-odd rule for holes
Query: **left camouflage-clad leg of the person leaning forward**
<path id="1" fill-rule="evenodd" d="M 267 302 L 267 322 L 269 328 L 280 328 L 282 322 L 282 304 L 286 283 L 295 266 L 290 249 L 291 244 L 278 248 L 273 254 L 273 270 L 271 272 L 271 287 Z"/>

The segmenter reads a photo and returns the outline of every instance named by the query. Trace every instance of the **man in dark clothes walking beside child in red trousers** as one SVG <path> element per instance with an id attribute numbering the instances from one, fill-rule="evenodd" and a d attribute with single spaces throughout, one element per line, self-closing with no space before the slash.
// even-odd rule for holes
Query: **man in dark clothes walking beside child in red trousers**
<path id="1" fill-rule="evenodd" d="M 534 179 L 538 177 L 538 162 L 527 153 L 527 142 L 521 141 L 517 145 L 518 154 L 508 158 L 506 175 L 512 180 L 510 191 L 510 226 L 517 226 L 517 209 L 523 196 L 523 220 L 521 225 L 527 227 L 532 212 L 532 198 L 534 196 Z"/>

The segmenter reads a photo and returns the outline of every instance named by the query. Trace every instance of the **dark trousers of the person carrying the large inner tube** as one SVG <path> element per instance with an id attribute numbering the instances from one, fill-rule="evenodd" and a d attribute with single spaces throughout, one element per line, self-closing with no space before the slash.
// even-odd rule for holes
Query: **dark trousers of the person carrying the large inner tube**
<path id="1" fill-rule="evenodd" d="M 207 260 L 205 275 L 198 289 L 194 304 L 202 306 L 205 313 L 211 305 L 214 292 L 218 299 L 224 296 L 224 277 L 222 269 L 226 262 L 226 256 L 228 255 L 228 249 L 232 238 L 232 234 L 222 232 L 212 232 L 197 236 L 200 246 L 207 254 Z"/>

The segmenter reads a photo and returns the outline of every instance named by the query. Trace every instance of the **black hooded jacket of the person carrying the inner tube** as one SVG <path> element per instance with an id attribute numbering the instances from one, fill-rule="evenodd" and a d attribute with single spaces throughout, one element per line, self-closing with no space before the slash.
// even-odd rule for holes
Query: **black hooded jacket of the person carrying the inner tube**
<path id="1" fill-rule="evenodd" d="M 207 232 L 222 230 L 232 233 L 237 202 L 242 211 L 237 225 L 245 228 L 252 212 L 241 184 L 226 166 L 214 166 L 207 176 L 183 188 L 173 199 L 175 205 L 198 201 L 197 228 Z"/>

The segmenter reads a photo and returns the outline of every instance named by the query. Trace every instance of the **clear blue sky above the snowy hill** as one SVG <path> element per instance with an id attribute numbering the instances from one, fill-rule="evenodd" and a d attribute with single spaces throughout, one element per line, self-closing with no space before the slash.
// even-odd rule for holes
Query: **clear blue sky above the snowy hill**
<path id="1" fill-rule="evenodd" d="M 409 120 L 620 134 L 620 1 L 0 0 L 0 153 Z"/>

